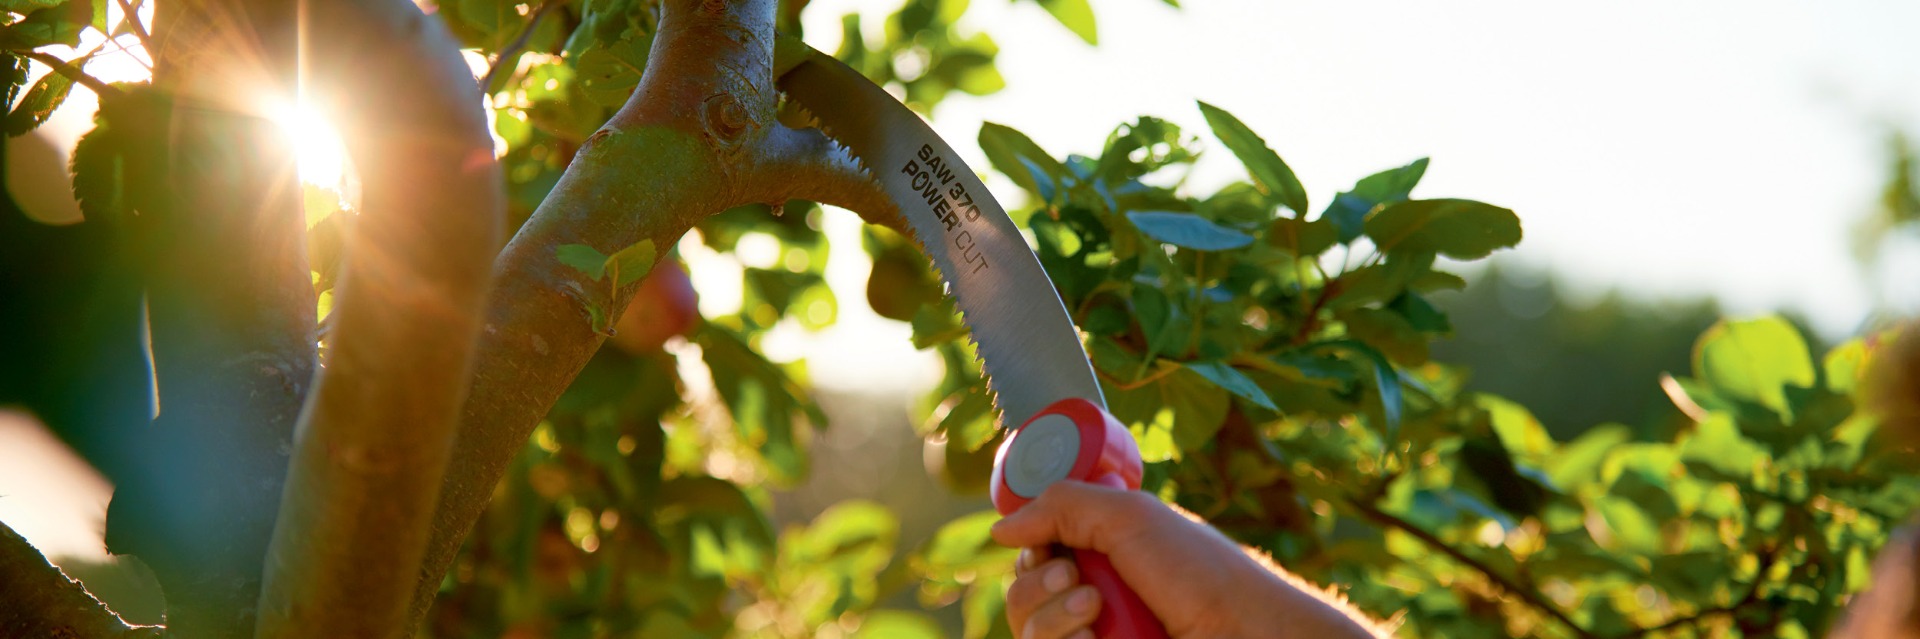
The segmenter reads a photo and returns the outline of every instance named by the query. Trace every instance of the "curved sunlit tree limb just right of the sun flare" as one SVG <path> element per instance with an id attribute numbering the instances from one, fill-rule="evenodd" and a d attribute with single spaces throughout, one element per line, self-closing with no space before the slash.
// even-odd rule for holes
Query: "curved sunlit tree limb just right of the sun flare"
<path id="1" fill-rule="evenodd" d="M 467 393 L 505 190 L 451 33 L 407 0 L 309 2 L 309 79 L 361 173 L 332 338 L 257 637 L 403 637 Z"/>

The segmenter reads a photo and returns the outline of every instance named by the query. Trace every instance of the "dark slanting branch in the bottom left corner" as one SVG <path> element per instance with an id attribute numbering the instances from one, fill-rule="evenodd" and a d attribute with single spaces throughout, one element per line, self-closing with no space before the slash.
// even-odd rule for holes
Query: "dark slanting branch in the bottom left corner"
<path id="1" fill-rule="evenodd" d="M 81 581 L 0 522 L 0 637 L 159 639 L 157 626 L 127 626 Z"/>

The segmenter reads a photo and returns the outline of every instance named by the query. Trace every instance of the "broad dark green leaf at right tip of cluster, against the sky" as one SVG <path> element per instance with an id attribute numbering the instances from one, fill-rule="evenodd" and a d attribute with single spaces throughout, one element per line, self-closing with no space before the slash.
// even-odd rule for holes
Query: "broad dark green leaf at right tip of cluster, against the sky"
<path id="1" fill-rule="evenodd" d="M 1427 251 L 1480 259 L 1521 244 L 1513 211 L 1473 200 L 1411 200 L 1367 219 L 1367 238 L 1382 251 Z"/>

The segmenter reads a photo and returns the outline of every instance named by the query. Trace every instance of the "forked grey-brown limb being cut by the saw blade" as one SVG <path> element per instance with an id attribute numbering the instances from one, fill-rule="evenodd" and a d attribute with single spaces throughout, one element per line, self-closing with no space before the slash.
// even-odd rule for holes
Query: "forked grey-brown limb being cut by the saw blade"
<path id="1" fill-rule="evenodd" d="M 776 123 L 774 10 L 774 0 L 666 0 L 634 96 L 588 138 L 493 261 L 495 288 L 415 620 L 432 606 L 507 464 L 599 347 L 586 305 L 616 315 L 637 288 L 609 294 L 561 265 L 559 246 L 612 253 L 651 240 L 664 251 L 707 215 L 789 198 L 897 215 L 818 130 Z"/>

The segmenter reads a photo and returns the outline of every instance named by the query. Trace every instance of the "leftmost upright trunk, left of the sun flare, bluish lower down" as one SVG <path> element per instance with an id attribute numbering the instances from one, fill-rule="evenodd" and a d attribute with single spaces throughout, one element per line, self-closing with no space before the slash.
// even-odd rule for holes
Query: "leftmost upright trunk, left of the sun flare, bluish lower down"
<path id="1" fill-rule="evenodd" d="M 315 365 L 294 150 L 263 102 L 292 100 L 292 2 L 156 6 L 173 96 L 165 194 L 136 203 L 159 414 L 121 478 L 108 549 L 138 555 L 184 637 L 248 637 L 294 420 Z"/>

